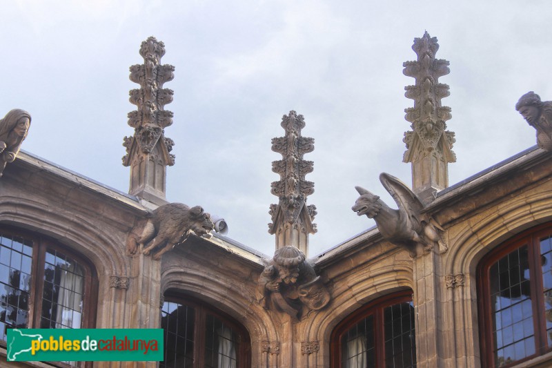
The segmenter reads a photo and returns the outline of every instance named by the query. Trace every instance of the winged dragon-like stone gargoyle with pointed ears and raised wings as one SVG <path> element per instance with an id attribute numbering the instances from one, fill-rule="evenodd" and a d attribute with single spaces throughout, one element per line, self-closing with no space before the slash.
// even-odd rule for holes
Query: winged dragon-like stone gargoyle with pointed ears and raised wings
<path id="1" fill-rule="evenodd" d="M 359 216 L 373 218 L 385 240 L 407 249 L 413 257 L 421 254 L 420 248 L 444 253 L 447 247 L 440 233 L 444 229 L 433 217 L 422 213 L 424 204 L 417 195 L 392 175 L 382 173 L 380 182 L 391 194 L 399 209 L 389 208 L 379 196 L 356 186 L 360 197 L 352 210 Z"/>

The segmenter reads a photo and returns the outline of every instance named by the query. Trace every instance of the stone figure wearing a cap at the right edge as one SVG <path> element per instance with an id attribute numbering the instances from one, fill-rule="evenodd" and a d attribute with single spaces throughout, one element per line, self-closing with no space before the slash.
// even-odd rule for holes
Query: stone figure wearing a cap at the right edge
<path id="1" fill-rule="evenodd" d="M 552 101 L 541 101 L 540 96 L 531 91 L 520 97 L 515 110 L 537 130 L 538 146 L 552 151 Z"/>

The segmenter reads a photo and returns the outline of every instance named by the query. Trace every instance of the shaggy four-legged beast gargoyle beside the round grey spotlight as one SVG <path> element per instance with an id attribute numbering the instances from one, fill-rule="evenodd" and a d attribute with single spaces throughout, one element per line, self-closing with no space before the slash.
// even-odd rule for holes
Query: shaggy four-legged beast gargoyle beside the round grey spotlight
<path id="1" fill-rule="evenodd" d="M 160 260 L 161 255 L 184 242 L 190 233 L 211 238 L 214 226 L 209 213 L 201 206 L 190 208 L 181 203 L 164 204 L 150 213 L 141 235 L 136 235 L 137 229 L 132 230 L 128 236 L 126 250 L 132 255 L 139 249 L 139 245 L 142 245 L 144 255 L 154 251 L 152 258 Z"/>

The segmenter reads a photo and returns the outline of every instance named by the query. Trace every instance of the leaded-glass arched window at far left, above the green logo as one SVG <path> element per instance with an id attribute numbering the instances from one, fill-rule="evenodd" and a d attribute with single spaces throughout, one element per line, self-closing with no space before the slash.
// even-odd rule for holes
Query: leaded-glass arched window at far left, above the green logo
<path id="1" fill-rule="evenodd" d="M 93 295 L 87 260 L 50 238 L 0 226 L 0 346 L 7 329 L 94 327 Z"/>

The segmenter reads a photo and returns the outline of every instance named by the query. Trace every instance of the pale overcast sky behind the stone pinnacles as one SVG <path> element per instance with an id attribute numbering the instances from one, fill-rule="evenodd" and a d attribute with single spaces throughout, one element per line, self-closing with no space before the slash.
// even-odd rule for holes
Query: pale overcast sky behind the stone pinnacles
<path id="1" fill-rule="evenodd" d="M 141 41 L 164 41 L 162 64 L 175 66 L 165 106 L 175 141 L 167 199 L 226 218 L 228 236 L 268 255 L 268 206 L 279 180 L 270 139 L 282 115 L 304 115 L 315 138 L 318 233 L 310 256 L 373 226 L 351 206 L 355 185 L 382 195 L 384 171 L 411 185 L 402 163 L 409 123 L 402 63 L 415 60 L 414 37 L 437 37 L 440 78 L 451 87 L 457 162 L 454 184 L 535 144 L 515 111 L 534 90 L 552 99 L 549 1 L 12 1 L 0 0 L 0 115 L 32 115 L 23 150 L 128 191 L 121 165 L 127 114 L 136 106 L 128 67 L 142 64 Z M 449 5 L 447 5 L 449 4 Z M 547 36 L 548 35 L 548 36 Z"/>

